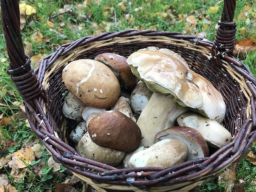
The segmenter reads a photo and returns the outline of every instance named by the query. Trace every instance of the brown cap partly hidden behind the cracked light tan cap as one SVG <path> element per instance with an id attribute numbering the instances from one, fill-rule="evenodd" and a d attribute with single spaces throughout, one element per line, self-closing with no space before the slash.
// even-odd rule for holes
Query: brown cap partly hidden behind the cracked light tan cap
<path id="1" fill-rule="evenodd" d="M 137 78 L 133 75 L 129 64 L 126 62 L 126 57 L 115 53 L 102 53 L 97 55 L 95 60 L 113 67 L 120 74 L 127 89 L 132 90 L 137 84 Z"/>

